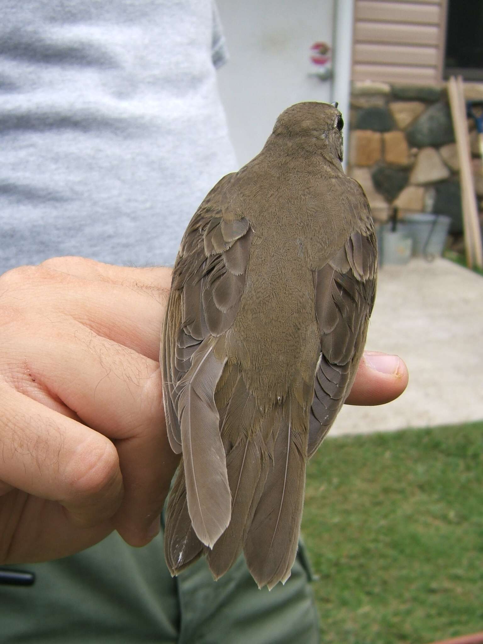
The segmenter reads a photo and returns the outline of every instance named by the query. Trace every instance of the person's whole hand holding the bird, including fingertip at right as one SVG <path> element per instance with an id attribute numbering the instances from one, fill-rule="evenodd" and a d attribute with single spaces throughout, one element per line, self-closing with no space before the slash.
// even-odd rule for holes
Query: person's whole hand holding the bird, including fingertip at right
<path id="1" fill-rule="evenodd" d="M 159 529 L 178 463 L 158 368 L 170 283 L 169 269 L 82 258 L 0 276 L 0 564 L 66 556 L 114 529 L 144 545 Z M 384 373 L 374 355 L 348 403 L 406 387 L 404 363 Z"/>

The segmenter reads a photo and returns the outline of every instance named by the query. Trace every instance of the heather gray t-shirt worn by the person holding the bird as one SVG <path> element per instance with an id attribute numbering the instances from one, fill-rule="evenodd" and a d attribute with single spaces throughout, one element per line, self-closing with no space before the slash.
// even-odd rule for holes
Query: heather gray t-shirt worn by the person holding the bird
<path id="1" fill-rule="evenodd" d="M 0 273 L 64 254 L 172 264 L 236 169 L 212 0 L 3 0 Z"/>

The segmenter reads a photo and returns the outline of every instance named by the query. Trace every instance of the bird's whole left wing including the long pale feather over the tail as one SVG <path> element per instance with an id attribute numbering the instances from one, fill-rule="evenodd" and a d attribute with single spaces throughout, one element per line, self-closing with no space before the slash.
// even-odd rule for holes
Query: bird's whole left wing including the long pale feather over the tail
<path id="1" fill-rule="evenodd" d="M 189 517 L 210 547 L 231 515 L 214 393 L 226 360 L 222 336 L 240 308 L 252 236 L 249 220 L 232 212 L 225 193 L 233 176 L 207 194 L 184 234 L 160 357 L 169 442 L 176 453 L 183 452 Z"/>

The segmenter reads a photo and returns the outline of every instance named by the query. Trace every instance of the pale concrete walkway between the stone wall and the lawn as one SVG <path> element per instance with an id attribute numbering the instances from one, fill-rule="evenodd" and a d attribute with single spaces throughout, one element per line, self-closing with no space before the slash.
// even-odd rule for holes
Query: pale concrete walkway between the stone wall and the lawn
<path id="1" fill-rule="evenodd" d="M 366 348 L 400 355 L 406 392 L 383 406 L 345 405 L 330 435 L 483 419 L 483 278 L 448 260 L 379 270 Z"/>

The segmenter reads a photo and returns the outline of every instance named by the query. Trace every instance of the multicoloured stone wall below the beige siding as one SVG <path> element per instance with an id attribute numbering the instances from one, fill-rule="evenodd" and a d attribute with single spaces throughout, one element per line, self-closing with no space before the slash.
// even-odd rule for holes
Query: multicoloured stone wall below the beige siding
<path id="1" fill-rule="evenodd" d="M 483 85 L 465 91 L 483 100 Z M 450 231 L 460 234 L 459 162 L 446 88 L 354 82 L 350 122 L 348 174 L 365 189 L 374 218 L 384 222 L 393 207 L 401 214 L 448 214 Z M 482 161 L 474 121 L 468 125 L 481 211 Z"/>

